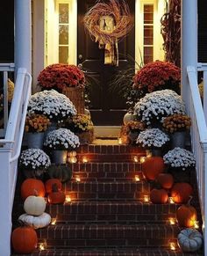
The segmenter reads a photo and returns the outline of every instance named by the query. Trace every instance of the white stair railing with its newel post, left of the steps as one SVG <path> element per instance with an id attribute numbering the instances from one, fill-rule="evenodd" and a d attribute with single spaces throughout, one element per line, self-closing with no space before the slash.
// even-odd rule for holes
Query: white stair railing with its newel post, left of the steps
<path id="1" fill-rule="evenodd" d="M 26 69 L 18 69 L 5 138 L 0 140 L 0 256 L 11 255 L 11 212 L 31 84 L 32 77 Z"/>

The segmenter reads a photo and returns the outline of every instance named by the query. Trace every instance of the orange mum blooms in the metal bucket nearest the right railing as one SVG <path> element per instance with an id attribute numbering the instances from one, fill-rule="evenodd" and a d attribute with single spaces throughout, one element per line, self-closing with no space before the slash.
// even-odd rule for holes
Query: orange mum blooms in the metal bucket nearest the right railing
<path id="1" fill-rule="evenodd" d="M 173 134 L 178 131 L 189 130 L 191 120 L 186 114 L 173 114 L 164 119 L 162 126 L 165 131 Z"/>

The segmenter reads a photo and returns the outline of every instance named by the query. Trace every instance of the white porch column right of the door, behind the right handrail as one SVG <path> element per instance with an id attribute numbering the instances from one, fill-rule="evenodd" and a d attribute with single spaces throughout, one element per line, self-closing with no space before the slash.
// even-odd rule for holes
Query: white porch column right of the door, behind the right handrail
<path id="1" fill-rule="evenodd" d="M 197 69 L 197 0 L 182 0 L 182 99 L 189 113 L 187 66 Z"/>

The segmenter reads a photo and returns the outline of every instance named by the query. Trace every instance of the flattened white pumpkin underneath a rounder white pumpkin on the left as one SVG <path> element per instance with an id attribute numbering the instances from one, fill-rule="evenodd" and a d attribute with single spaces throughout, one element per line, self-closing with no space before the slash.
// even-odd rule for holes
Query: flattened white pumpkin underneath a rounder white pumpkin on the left
<path id="1" fill-rule="evenodd" d="M 23 214 L 18 217 L 18 220 L 22 221 L 28 226 L 31 226 L 33 229 L 40 229 L 48 226 L 51 222 L 51 216 L 44 212 L 40 216 L 30 216 L 27 214 Z"/>

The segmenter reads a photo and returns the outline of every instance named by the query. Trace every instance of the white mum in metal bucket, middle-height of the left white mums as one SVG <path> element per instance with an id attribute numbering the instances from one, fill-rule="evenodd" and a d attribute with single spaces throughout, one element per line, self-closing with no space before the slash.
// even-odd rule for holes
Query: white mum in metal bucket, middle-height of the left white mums
<path id="1" fill-rule="evenodd" d="M 70 150 L 79 147 L 80 142 L 68 128 L 59 128 L 46 135 L 44 145 L 53 150 Z"/>

